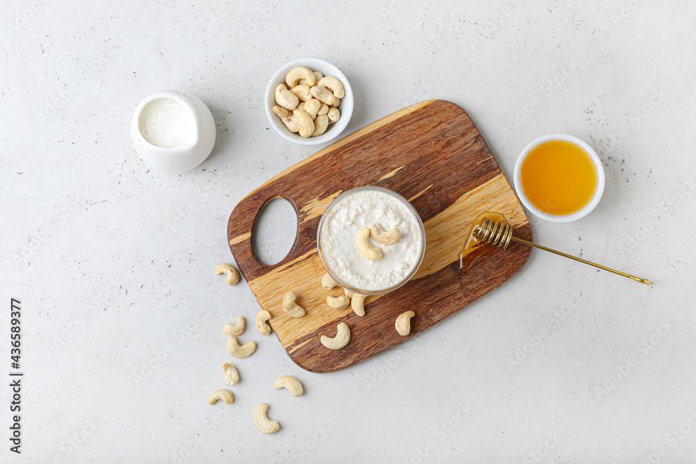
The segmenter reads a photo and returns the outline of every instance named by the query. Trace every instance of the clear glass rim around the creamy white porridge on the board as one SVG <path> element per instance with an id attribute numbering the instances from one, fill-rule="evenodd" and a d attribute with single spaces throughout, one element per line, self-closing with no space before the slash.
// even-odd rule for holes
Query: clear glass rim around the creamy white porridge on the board
<path id="1" fill-rule="evenodd" d="M 390 195 L 394 198 L 396 198 L 398 201 L 402 202 L 402 204 L 406 207 L 406 209 L 409 209 L 411 211 L 411 214 L 416 218 L 416 221 L 418 223 L 418 230 L 420 231 L 420 250 L 418 254 L 418 261 L 416 262 L 416 265 L 413 266 L 413 269 L 409 271 L 406 275 L 404 275 L 404 278 L 400 280 L 400 282 L 397 282 L 395 285 L 392 285 L 391 287 L 385 288 L 385 289 L 377 289 L 377 290 L 365 290 L 365 289 L 360 289 L 358 287 L 354 287 L 353 285 L 347 284 L 344 280 L 342 280 L 333 270 L 331 269 L 330 266 L 326 264 L 326 259 L 324 259 L 324 253 L 322 250 L 322 228 L 324 227 L 324 220 L 329 217 L 329 214 L 326 213 L 326 211 L 331 211 L 331 208 L 333 205 L 338 205 L 338 203 L 342 200 L 344 200 L 347 196 L 352 195 L 353 193 L 356 192 L 361 192 L 361 191 L 377 191 L 380 193 L 386 193 L 387 195 Z M 331 278 L 338 282 L 338 285 L 345 289 L 349 289 L 351 291 L 354 291 L 358 294 L 363 294 L 363 295 L 381 295 L 381 294 L 386 294 L 389 293 L 390 291 L 394 291 L 395 289 L 402 287 L 402 285 L 406 285 L 406 282 L 409 282 L 411 278 L 413 278 L 414 275 L 416 275 L 416 272 L 418 272 L 418 268 L 420 268 L 420 264 L 423 262 L 423 257 L 425 257 L 425 226 L 423 225 L 423 221 L 420 218 L 420 214 L 418 214 L 418 211 L 416 211 L 416 208 L 411 205 L 411 202 L 409 200 L 406 200 L 406 198 L 402 197 L 402 195 L 399 195 L 393 190 L 390 189 L 385 189 L 384 187 L 377 187 L 377 186 L 363 186 L 363 187 L 356 187 L 355 189 L 350 189 L 347 190 L 338 197 L 334 198 L 333 201 L 329 204 L 329 207 L 326 208 L 326 211 L 324 211 L 324 214 L 322 214 L 322 218 L 319 219 L 319 227 L 317 227 L 317 250 L 319 252 L 319 259 L 322 260 L 322 264 L 324 265 L 324 269 L 326 269 L 326 272 L 331 275 Z"/>

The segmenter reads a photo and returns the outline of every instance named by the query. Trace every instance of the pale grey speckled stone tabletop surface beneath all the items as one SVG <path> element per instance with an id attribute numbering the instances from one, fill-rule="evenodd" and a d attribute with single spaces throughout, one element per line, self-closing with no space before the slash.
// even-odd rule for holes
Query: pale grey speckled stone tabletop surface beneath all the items
<path id="1" fill-rule="evenodd" d="M 693 461 L 695 18 L 683 0 L 3 2 L 0 461 Z M 294 366 L 255 332 L 244 282 L 213 269 L 231 262 L 237 202 L 322 147 L 285 141 L 262 106 L 271 74 L 303 56 L 347 75 L 345 134 L 448 99 L 508 176 L 533 138 L 583 138 L 603 200 L 576 223 L 530 218 L 535 240 L 654 285 L 535 251 L 397 349 L 335 374 Z M 166 88 L 198 95 L 217 125 L 212 155 L 183 175 L 145 166 L 129 138 L 136 104 Z M 259 241 L 278 259 L 293 231 L 276 211 Z M 221 328 L 240 315 L 258 349 L 234 360 Z M 235 403 L 208 406 L 227 361 Z M 282 375 L 306 393 L 274 390 Z M 263 402 L 275 435 L 253 424 Z"/>

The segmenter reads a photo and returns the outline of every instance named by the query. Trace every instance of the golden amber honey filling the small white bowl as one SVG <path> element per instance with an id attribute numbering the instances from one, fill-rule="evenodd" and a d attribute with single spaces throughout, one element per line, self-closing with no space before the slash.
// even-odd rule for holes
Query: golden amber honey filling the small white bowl
<path id="1" fill-rule="evenodd" d="M 583 209 L 597 187 L 590 156 L 575 143 L 563 140 L 534 147 L 522 161 L 520 179 L 532 205 L 554 216 Z"/>

